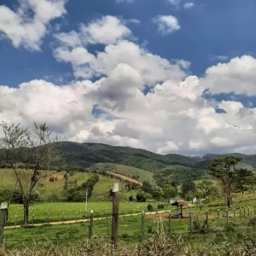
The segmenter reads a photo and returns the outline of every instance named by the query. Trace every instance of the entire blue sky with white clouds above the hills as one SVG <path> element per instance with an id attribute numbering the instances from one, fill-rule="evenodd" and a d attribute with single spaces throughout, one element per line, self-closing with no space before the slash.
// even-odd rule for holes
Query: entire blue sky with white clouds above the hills
<path id="1" fill-rule="evenodd" d="M 255 12 L 255 0 L 0 0 L 0 119 L 158 154 L 256 154 Z"/>

